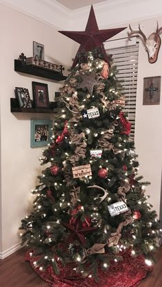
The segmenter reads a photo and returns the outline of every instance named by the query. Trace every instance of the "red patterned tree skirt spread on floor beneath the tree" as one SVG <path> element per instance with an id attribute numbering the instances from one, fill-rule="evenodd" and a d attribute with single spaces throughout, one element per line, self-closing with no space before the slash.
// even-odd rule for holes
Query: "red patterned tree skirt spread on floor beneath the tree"
<path id="1" fill-rule="evenodd" d="M 100 281 L 95 283 L 93 278 L 85 277 L 76 273 L 74 264 L 70 263 L 67 266 L 59 265 L 60 275 L 56 275 L 51 266 L 45 271 L 41 271 L 39 267 L 35 267 L 33 262 L 38 260 L 27 252 L 25 260 L 29 261 L 34 271 L 51 287 L 136 287 L 141 279 L 146 277 L 151 271 L 144 262 L 143 256 L 132 258 L 130 255 L 124 255 L 124 260 L 113 262 L 108 270 L 98 271 Z"/>

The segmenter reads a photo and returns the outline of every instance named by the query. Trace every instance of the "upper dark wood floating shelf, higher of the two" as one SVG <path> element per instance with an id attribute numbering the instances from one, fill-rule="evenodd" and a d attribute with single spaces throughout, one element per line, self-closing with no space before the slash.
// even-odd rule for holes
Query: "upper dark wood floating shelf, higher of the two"
<path id="1" fill-rule="evenodd" d="M 35 75 L 38 77 L 44 77 L 46 79 L 53 79 L 55 81 L 64 81 L 67 79 L 66 76 L 62 75 L 62 73 L 40 68 L 39 66 L 33 64 L 22 64 L 21 60 L 14 60 L 14 71 L 29 75 Z"/>

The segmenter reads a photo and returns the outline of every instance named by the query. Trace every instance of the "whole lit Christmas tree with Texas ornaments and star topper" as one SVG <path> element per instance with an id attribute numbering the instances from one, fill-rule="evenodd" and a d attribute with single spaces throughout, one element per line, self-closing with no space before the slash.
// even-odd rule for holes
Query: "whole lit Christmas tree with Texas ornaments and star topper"
<path id="1" fill-rule="evenodd" d="M 60 89 L 34 208 L 21 224 L 40 271 L 52 266 L 59 274 L 61 265 L 73 264 L 76 277 L 97 280 L 99 270 L 122 264 L 126 254 L 142 254 L 152 265 L 159 222 L 145 195 L 148 182 L 138 175 L 122 85 L 102 44 L 123 29 L 99 30 L 91 7 L 85 32 L 61 32 L 80 49 Z"/>

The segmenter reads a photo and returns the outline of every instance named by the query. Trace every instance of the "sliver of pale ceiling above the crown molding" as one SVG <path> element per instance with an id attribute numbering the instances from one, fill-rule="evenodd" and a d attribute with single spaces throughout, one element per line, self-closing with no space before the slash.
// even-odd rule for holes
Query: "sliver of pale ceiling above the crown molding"
<path id="1" fill-rule="evenodd" d="M 58 3 L 65 5 L 70 10 L 75 10 L 96 3 L 105 2 L 105 0 L 56 0 Z"/>

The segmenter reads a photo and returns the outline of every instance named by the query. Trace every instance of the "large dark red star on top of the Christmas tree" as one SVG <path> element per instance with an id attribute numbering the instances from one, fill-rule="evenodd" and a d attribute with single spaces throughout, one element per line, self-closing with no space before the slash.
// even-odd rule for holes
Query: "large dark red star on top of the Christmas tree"
<path id="1" fill-rule="evenodd" d="M 92 51 L 95 48 L 99 48 L 102 51 L 104 56 L 104 60 L 108 62 L 108 57 L 106 55 L 106 51 L 104 49 L 104 45 L 102 44 L 104 41 L 110 39 L 111 37 L 115 36 L 122 30 L 126 29 L 126 27 L 122 28 L 114 28 L 114 29 L 102 29 L 99 30 L 97 26 L 97 21 L 95 18 L 95 12 L 93 10 L 93 5 L 91 5 L 91 11 L 89 13 L 89 19 L 86 24 L 86 29 L 84 32 L 77 32 L 77 31 L 59 31 L 61 34 L 75 40 L 80 44 L 80 48 L 76 54 L 76 58 L 73 61 L 73 66 L 76 66 L 78 60 L 78 54 L 81 51 Z"/>

